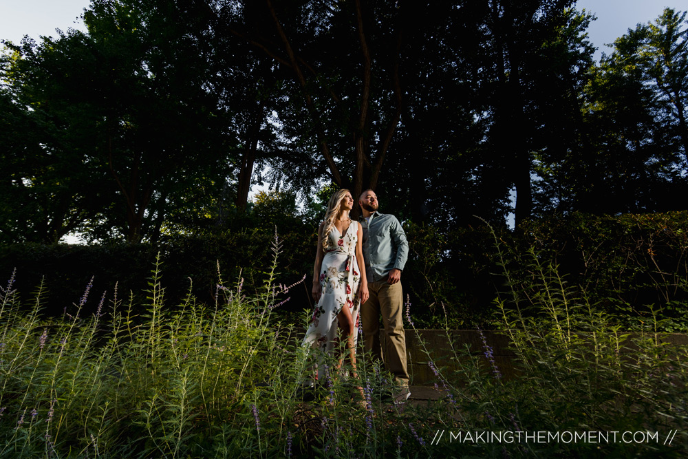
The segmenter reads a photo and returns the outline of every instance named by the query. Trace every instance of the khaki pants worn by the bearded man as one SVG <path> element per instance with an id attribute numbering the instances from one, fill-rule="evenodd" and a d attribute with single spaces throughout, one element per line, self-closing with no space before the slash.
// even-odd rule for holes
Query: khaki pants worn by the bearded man
<path id="1" fill-rule="evenodd" d="M 386 281 L 369 282 L 370 297 L 361 306 L 363 343 L 366 352 L 385 362 L 387 370 L 394 374 L 394 381 L 408 387 L 409 373 L 406 366 L 406 335 L 402 323 L 404 295 L 401 282 L 389 285 Z M 386 335 L 383 359 L 380 348 L 380 313 Z"/>

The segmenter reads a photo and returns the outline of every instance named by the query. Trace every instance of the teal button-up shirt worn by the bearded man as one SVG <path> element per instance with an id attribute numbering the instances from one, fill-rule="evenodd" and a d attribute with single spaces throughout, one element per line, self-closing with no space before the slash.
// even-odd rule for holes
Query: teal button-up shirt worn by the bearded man
<path id="1" fill-rule="evenodd" d="M 406 233 L 394 215 L 375 212 L 368 221 L 361 217 L 365 277 L 369 282 L 387 280 L 393 268 L 404 270 L 409 258 Z"/>

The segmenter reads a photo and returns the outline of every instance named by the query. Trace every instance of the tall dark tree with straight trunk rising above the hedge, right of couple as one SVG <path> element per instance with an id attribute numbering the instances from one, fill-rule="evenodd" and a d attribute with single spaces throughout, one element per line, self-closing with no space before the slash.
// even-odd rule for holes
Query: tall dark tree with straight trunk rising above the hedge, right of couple
<path id="1" fill-rule="evenodd" d="M 491 141 L 515 186 L 515 220 L 533 211 L 534 152 L 570 120 L 589 50 L 572 0 L 485 2 Z M 573 32 L 573 33 L 571 33 Z"/>

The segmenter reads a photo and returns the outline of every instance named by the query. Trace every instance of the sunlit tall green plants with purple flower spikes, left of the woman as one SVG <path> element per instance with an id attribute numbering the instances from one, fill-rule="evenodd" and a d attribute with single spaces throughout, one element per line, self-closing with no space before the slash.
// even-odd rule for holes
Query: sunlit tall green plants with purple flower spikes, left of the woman
<path id="1" fill-rule="evenodd" d="M 276 256 L 279 246 L 274 249 Z M 246 299 L 242 279 L 234 288 L 218 285 L 214 307 L 189 293 L 171 312 L 164 307 L 158 260 L 142 314 L 131 298 L 122 301 L 116 293 L 109 308 L 103 295 L 98 310 L 85 314 L 89 284 L 78 305 L 47 322 L 38 319 L 40 297 L 20 319 L 10 283 L 0 316 L 0 422 L 16 428 L 1 429 L 0 456 L 197 457 L 212 447 L 236 457 L 265 444 L 252 438 L 255 423 L 246 423 L 252 420 L 250 403 L 266 414 L 275 409 L 256 383 L 272 381 L 277 369 L 285 370 L 278 370 L 282 376 L 292 371 L 285 368 L 285 354 L 275 352 L 278 334 L 283 343 L 293 341 L 291 329 L 274 324 L 268 330 L 277 301 L 273 275 L 275 264 L 252 299 Z M 35 332 L 41 334 L 37 341 Z M 281 385 L 273 382 L 276 389 Z M 267 418 L 264 428 L 276 422 Z M 231 440 L 216 442 L 228 432 Z"/>

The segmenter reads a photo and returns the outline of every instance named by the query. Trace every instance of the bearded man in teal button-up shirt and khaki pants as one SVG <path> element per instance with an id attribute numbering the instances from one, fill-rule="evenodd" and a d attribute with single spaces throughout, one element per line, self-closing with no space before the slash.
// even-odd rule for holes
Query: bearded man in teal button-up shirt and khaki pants
<path id="1" fill-rule="evenodd" d="M 362 212 L 359 221 L 363 228 L 363 259 L 370 295 L 361 306 L 363 342 L 366 351 L 383 360 L 379 336 L 381 313 L 387 338 L 384 362 L 398 385 L 394 400 L 402 402 L 411 395 L 402 323 L 404 295 L 400 282 L 409 257 L 409 243 L 399 220 L 394 215 L 378 212 L 378 197 L 374 191 L 363 191 L 358 205 Z"/>

